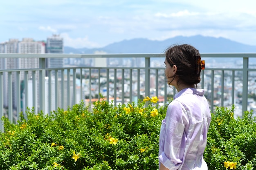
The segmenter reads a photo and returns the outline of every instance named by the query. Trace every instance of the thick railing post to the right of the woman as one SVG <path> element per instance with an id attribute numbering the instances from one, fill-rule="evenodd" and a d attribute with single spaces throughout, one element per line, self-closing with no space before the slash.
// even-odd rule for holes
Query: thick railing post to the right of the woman
<path id="1" fill-rule="evenodd" d="M 242 115 L 247 111 L 248 105 L 248 62 L 247 57 L 243 57 L 243 94 L 242 94 Z"/>

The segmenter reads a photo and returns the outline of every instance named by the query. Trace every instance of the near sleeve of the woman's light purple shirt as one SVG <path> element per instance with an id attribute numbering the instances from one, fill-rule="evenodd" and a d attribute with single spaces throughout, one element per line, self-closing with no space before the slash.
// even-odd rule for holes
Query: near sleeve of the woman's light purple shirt
<path id="1" fill-rule="evenodd" d="M 173 100 L 168 105 L 164 122 L 163 151 L 159 154 L 159 162 L 170 170 L 177 170 L 182 165 L 186 146 L 185 131 L 189 124 L 189 117 L 182 103 Z"/>

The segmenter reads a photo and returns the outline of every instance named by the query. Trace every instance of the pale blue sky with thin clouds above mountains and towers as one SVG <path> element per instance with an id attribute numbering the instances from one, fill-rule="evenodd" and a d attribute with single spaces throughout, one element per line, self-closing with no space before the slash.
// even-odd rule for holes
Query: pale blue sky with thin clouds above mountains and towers
<path id="1" fill-rule="evenodd" d="M 134 38 L 223 37 L 256 46 L 255 0 L 1 0 L 0 43 L 46 41 L 100 48 Z"/>

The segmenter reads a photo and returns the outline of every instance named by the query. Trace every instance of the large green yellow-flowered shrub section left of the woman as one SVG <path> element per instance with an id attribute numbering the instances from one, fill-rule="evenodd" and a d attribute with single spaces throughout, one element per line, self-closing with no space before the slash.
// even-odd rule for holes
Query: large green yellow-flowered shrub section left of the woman
<path id="1" fill-rule="evenodd" d="M 0 169 L 157 169 L 166 107 L 153 102 L 116 107 L 101 100 L 92 111 L 81 102 L 50 116 L 28 109 L 27 119 L 20 114 L 18 124 L 3 118 Z"/>

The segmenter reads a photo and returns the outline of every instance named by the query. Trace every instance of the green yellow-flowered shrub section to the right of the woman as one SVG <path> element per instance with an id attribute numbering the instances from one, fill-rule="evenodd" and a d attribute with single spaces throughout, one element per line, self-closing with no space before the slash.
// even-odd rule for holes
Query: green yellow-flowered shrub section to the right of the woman
<path id="1" fill-rule="evenodd" d="M 204 152 L 209 170 L 225 169 L 224 162 L 236 163 L 238 170 L 256 168 L 256 119 L 252 111 L 235 119 L 234 108 L 217 107 L 212 114 Z"/>

